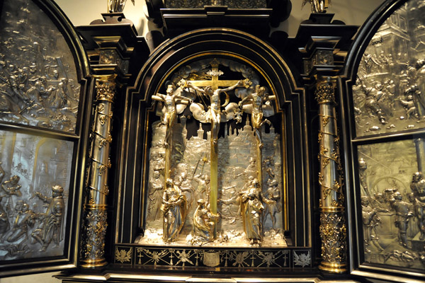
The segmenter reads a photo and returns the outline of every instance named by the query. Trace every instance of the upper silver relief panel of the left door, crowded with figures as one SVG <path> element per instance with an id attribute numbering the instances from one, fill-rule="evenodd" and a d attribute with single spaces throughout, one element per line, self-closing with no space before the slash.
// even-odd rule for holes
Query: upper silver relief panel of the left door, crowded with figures
<path id="1" fill-rule="evenodd" d="M 2 6 L 0 121 L 75 132 L 79 83 L 67 43 L 33 2 Z"/>

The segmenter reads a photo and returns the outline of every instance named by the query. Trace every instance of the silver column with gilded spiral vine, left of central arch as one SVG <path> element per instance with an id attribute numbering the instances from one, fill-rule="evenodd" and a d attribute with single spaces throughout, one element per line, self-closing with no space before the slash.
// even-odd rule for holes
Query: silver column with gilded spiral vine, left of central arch
<path id="1" fill-rule="evenodd" d="M 115 96 L 116 75 L 99 75 L 96 78 L 94 125 L 91 132 L 89 168 L 86 176 L 84 224 L 81 242 L 81 266 L 106 265 L 105 236 L 108 223 L 107 197 L 110 144 L 112 141 L 112 108 Z"/>

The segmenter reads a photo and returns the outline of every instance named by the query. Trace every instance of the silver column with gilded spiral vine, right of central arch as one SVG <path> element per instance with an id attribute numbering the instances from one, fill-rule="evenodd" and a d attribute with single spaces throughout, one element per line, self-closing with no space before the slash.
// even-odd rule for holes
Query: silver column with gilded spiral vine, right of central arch
<path id="1" fill-rule="evenodd" d="M 331 79 L 317 83 L 315 96 L 319 104 L 319 185 L 321 270 L 346 272 L 346 219 L 344 216 L 344 182 L 336 127 L 335 88 Z"/>

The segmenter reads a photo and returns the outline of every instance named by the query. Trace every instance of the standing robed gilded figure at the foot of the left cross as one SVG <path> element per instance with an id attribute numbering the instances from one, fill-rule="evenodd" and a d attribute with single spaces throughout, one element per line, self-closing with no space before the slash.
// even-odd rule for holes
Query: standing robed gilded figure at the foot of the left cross
<path id="1" fill-rule="evenodd" d="M 164 212 L 163 239 L 164 242 L 176 241 L 186 219 L 186 197 L 173 180 L 168 178 L 162 195 L 162 212 Z"/>

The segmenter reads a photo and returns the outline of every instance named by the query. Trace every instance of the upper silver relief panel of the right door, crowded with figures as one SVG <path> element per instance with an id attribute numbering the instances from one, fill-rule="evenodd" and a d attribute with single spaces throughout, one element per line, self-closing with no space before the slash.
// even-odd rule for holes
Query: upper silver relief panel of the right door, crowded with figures
<path id="1" fill-rule="evenodd" d="M 358 136 L 423 128 L 425 1 L 387 18 L 365 50 L 353 86 Z"/>

